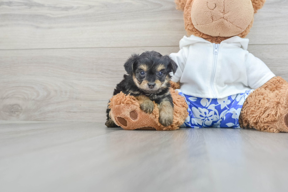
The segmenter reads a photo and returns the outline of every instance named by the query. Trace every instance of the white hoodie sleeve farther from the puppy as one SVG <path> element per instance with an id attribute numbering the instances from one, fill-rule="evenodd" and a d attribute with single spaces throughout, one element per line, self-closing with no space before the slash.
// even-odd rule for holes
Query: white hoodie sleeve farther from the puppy
<path id="1" fill-rule="evenodd" d="M 247 83 L 252 89 L 257 89 L 275 77 L 274 73 L 259 58 L 248 53 L 246 60 Z"/>

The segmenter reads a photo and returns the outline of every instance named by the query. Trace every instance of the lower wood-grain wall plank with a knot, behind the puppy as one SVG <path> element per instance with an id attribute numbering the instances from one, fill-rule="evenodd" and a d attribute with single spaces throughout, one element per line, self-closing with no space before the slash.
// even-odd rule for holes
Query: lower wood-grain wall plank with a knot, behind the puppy
<path id="1" fill-rule="evenodd" d="M 0 119 L 103 122 L 123 63 L 145 50 L 169 54 L 179 47 L 2 50 Z M 288 80 L 288 45 L 250 45 L 249 51 Z"/>

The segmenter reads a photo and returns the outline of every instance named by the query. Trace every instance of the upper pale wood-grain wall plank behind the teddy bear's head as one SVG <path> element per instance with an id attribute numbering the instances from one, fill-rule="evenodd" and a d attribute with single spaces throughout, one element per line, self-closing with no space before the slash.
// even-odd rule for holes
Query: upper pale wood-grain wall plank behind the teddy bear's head
<path id="1" fill-rule="evenodd" d="M 267 0 L 250 44 L 288 43 L 288 1 Z M 174 0 L 1 0 L 0 49 L 178 46 Z"/>

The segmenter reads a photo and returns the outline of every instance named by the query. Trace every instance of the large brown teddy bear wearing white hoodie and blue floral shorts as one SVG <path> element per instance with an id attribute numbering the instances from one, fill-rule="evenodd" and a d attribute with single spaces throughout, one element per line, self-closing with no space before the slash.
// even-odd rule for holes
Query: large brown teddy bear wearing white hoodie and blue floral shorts
<path id="1" fill-rule="evenodd" d="M 254 13 L 265 0 L 175 0 L 187 36 L 170 57 L 173 124 L 163 127 L 132 96 L 110 99 L 111 118 L 123 129 L 253 128 L 288 132 L 288 83 L 247 51 Z M 179 103 L 178 103 L 179 102 Z M 174 120 L 175 118 L 175 120 Z"/>

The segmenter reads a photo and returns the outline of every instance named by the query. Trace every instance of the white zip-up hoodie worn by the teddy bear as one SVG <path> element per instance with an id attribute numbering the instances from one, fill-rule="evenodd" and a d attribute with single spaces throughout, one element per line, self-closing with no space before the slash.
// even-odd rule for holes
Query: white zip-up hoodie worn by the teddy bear
<path id="1" fill-rule="evenodd" d="M 184 36 L 170 57 L 178 65 L 172 81 L 181 91 L 201 98 L 224 98 L 256 89 L 275 75 L 247 51 L 249 39 L 234 36 L 220 44 Z"/>

